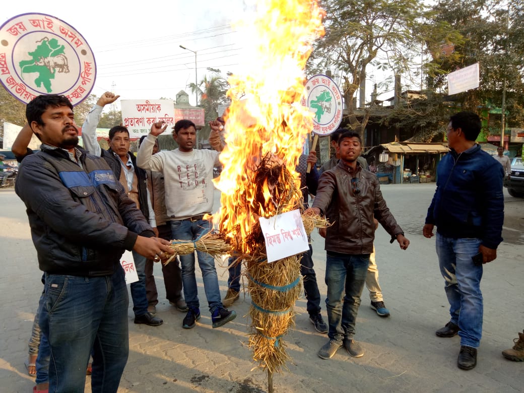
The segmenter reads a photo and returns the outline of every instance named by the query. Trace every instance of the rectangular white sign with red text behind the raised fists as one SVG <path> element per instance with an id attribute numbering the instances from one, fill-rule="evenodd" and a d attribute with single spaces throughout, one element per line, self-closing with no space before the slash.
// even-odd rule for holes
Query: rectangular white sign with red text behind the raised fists
<path id="1" fill-rule="evenodd" d="M 156 122 L 166 122 L 162 135 L 170 134 L 174 126 L 172 100 L 121 100 L 122 124 L 128 129 L 130 138 L 149 134 Z"/>

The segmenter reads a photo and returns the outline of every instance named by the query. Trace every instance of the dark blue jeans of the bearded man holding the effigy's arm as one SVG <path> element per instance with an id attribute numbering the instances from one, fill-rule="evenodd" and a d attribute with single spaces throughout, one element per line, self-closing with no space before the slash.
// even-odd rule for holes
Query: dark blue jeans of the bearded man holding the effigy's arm
<path id="1" fill-rule="evenodd" d="M 92 354 L 92 391 L 116 392 L 129 353 L 124 270 L 103 277 L 46 274 L 44 291 L 39 322 L 49 341 L 49 391 L 84 391 Z"/>

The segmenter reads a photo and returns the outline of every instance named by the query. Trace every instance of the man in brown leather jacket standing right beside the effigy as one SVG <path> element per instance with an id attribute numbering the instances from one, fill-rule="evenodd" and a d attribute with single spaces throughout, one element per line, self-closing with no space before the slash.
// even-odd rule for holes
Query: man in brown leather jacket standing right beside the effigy
<path id="1" fill-rule="evenodd" d="M 335 168 L 322 173 L 313 206 L 308 209 L 315 214 L 325 214 L 333 224 L 327 228 L 325 238 L 330 341 L 319 351 L 323 359 L 333 357 L 342 345 L 353 357 L 364 355 L 353 336 L 369 254 L 373 252 L 373 217 L 391 235 L 392 241 L 397 240 L 400 248 L 409 246 L 409 240 L 382 198 L 375 173 L 357 162 L 361 150 L 359 134 L 350 131 L 340 136 L 340 161 Z"/>

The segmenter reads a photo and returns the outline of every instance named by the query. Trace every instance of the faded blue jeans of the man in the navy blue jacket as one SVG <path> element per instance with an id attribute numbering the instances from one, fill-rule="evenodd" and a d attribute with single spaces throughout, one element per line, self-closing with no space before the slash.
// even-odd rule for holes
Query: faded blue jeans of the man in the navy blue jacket
<path id="1" fill-rule="evenodd" d="M 461 345 L 478 348 L 482 337 L 482 265 L 475 266 L 481 239 L 453 239 L 436 233 L 436 255 L 450 303 L 451 322 L 459 325 Z"/>

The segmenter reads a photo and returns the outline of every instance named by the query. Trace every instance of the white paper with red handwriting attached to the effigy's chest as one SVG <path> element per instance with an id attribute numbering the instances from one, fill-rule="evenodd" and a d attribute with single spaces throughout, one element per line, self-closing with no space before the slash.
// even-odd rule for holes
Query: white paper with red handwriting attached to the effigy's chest
<path id="1" fill-rule="evenodd" d="M 278 214 L 269 219 L 259 217 L 258 220 L 266 241 L 268 263 L 309 249 L 308 235 L 299 210 Z"/>

